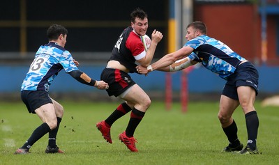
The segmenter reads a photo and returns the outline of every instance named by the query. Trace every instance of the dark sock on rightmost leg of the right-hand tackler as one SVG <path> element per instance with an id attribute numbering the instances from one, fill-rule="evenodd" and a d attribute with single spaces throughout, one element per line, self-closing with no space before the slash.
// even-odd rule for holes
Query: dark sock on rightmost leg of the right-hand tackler
<path id="1" fill-rule="evenodd" d="M 257 118 L 256 111 L 246 113 L 246 128 L 248 133 L 247 146 L 252 150 L 257 148 L 257 129 L 259 128 L 259 118 Z"/>

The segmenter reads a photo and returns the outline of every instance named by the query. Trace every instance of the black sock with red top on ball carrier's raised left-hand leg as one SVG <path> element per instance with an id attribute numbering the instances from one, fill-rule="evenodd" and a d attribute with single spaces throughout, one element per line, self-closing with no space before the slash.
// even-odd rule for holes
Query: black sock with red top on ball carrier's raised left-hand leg
<path id="1" fill-rule="evenodd" d="M 117 119 L 121 118 L 131 110 L 132 109 L 128 106 L 128 104 L 126 104 L 126 102 L 123 102 L 122 104 L 119 105 L 119 107 L 117 107 L 117 109 L 115 109 L 114 112 L 112 112 L 112 114 L 107 119 L 105 119 L 105 123 L 112 126 L 112 124 Z"/>

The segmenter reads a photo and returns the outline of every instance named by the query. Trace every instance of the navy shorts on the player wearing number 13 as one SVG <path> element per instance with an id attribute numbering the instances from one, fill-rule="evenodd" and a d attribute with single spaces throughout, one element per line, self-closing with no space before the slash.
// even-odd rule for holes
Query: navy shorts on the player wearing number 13
<path id="1" fill-rule="evenodd" d="M 35 110 L 44 104 L 52 103 L 50 95 L 46 91 L 22 91 L 22 101 L 26 105 L 29 113 L 36 113 Z"/>

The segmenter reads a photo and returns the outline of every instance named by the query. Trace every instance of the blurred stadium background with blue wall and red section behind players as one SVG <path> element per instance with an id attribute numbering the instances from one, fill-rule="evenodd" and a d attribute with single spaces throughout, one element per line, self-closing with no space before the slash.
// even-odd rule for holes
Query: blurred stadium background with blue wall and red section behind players
<path id="1" fill-rule="evenodd" d="M 99 79 L 116 39 L 130 26 L 130 13 L 137 7 L 149 15 L 147 34 L 151 36 L 153 29 L 164 34 L 154 61 L 182 47 L 187 24 L 200 20 L 206 23 L 209 36 L 222 40 L 257 65 L 262 97 L 279 93 L 278 0 L 2 0 L 1 99 L 20 97 L 22 80 L 38 47 L 47 43 L 46 31 L 51 24 L 66 26 L 69 32 L 66 49 L 80 61 L 81 70 Z M 105 91 L 79 84 L 63 71 L 60 74 L 51 87 L 54 97 L 68 93 L 107 97 Z M 195 68 L 186 76 L 190 99 L 199 93 L 220 93 L 225 82 L 204 68 Z M 132 77 L 153 97 L 165 95 L 164 72 Z M 180 93 L 181 72 L 171 74 L 171 79 L 172 91 Z"/>

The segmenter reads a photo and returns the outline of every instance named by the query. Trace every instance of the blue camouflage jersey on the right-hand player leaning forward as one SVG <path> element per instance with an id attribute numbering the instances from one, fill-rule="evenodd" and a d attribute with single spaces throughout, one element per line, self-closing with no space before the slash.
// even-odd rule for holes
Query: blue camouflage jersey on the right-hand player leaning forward
<path id="1" fill-rule="evenodd" d="M 205 35 L 189 40 L 184 46 L 194 49 L 189 55 L 191 60 L 202 63 L 205 68 L 223 79 L 227 79 L 234 73 L 239 63 L 246 60 L 223 42 Z"/>

